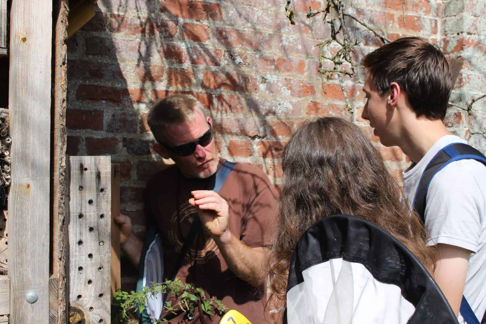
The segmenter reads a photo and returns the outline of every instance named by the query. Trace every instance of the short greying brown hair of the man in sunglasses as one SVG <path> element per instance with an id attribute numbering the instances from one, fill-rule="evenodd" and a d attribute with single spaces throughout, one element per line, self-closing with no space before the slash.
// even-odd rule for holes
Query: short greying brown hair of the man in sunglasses
<path id="1" fill-rule="evenodd" d="M 168 96 L 152 106 L 147 123 L 156 140 L 162 143 L 163 136 L 161 133 L 164 130 L 174 123 L 192 120 L 197 110 L 204 115 L 201 103 L 191 95 Z"/>

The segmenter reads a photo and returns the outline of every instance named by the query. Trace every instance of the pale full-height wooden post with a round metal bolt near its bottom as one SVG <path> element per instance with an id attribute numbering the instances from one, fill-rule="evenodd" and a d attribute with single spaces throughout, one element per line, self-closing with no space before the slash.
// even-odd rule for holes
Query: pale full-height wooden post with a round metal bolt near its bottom
<path id="1" fill-rule="evenodd" d="M 12 1 L 10 35 L 10 322 L 48 323 L 52 0 Z"/>

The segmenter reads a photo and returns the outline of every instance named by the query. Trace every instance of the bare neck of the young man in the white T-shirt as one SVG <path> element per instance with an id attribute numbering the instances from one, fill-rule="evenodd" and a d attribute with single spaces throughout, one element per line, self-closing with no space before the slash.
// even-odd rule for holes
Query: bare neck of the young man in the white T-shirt
<path id="1" fill-rule="evenodd" d="M 442 120 L 418 118 L 405 125 L 401 150 L 418 163 L 442 136 L 451 135 Z"/>

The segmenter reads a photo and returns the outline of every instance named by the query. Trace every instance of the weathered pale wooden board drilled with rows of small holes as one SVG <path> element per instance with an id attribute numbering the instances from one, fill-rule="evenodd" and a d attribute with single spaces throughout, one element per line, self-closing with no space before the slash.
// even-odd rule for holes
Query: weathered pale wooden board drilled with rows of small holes
<path id="1" fill-rule="evenodd" d="M 69 302 L 86 323 L 110 319 L 111 159 L 69 157 Z"/>

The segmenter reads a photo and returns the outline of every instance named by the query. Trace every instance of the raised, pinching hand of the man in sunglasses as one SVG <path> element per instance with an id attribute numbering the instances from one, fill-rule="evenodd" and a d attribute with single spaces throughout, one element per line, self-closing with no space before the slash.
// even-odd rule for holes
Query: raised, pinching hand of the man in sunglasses
<path id="1" fill-rule="evenodd" d="M 228 235 L 229 208 L 228 203 L 213 190 L 191 191 L 194 198 L 189 204 L 197 209 L 204 227 L 215 239 L 224 240 Z"/>

